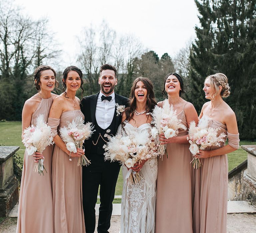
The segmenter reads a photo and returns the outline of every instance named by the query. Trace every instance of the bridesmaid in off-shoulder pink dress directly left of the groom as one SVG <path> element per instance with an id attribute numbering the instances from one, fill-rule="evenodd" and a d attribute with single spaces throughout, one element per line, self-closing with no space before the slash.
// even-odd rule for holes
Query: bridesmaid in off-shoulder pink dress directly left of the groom
<path id="1" fill-rule="evenodd" d="M 82 167 L 77 166 L 78 157 L 84 154 L 68 151 L 66 144 L 58 135 L 59 128 L 66 126 L 77 116 L 83 117 L 80 110 L 80 100 L 76 97 L 79 88 L 82 89 L 82 71 L 69 66 L 63 72 L 63 89 L 61 95 L 55 98 L 48 124 L 54 132 L 55 147 L 52 156 L 52 193 L 53 221 L 56 233 L 85 233 L 84 213 L 82 205 Z M 71 159 L 71 161 L 70 161 Z"/>

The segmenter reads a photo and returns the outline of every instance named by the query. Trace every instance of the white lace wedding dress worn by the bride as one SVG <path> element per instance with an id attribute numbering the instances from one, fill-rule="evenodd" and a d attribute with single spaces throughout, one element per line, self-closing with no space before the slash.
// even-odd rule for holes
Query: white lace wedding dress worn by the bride
<path id="1" fill-rule="evenodd" d="M 127 123 L 129 127 L 133 127 Z M 134 127 L 133 127 L 134 128 Z M 125 133 L 119 127 L 121 133 Z M 137 130 L 151 130 L 148 123 L 140 125 Z M 139 171 L 140 182 L 127 183 L 125 179 L 128 169 L 123 164 L 123 192 L 121 205 L 121 233 L 154 233 L 155 232 L 155 205 L 157 157 L 145 162 Z"/>

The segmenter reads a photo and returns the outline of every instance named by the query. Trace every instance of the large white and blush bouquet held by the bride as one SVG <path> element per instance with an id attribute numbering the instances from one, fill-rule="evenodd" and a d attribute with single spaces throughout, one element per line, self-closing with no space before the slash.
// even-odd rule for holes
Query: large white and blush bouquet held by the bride
<path id="1" fill-rule="evenodd" d="M 132 170 L 135 163 L 157 156 L 157 147 L 148 130 L 138 131 L 136 127 L 125 123 L 124 132 L 109 138 L 105 148 L 105 160 L 119 161 L 129 168 L 126 179 L 136 184 L 140 176 Z"/>

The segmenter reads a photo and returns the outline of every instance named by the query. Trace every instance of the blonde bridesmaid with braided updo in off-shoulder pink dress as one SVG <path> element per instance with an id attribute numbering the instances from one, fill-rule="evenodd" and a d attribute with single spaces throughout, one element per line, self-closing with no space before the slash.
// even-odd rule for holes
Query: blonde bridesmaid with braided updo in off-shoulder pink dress
<path id="1" fill-rule="evenodd" d="M 227 227 L 228 200 L 228 159 L 227 153 L 239 148 L 239 133 L 233 110 L 223 101 L 230 94 L 226 75 L 217 73 L 205 79 L 205 98 L 210 100 L 202 107 L 200 118 L 211 118 L 209 127 L 220 128 L 228 138 L 228 144 L 199 150 L 196 157 L 201 158 L 200 202 L 195 201 L 194 208 L 200 210 L 199 218 L 193 219 L 195 231 L 200 233 L 224 233 Z"/>

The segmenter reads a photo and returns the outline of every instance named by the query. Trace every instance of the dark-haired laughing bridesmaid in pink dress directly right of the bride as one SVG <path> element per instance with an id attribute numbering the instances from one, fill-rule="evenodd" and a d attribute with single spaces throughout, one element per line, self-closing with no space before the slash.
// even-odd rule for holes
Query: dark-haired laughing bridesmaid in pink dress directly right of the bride
<path id="1" fill-rule="evenodd" d="M 183 100 L 184 84 L 176 73 L 165 77 L 168 101 L 177 111 L 182 123 L 189 127 L 192 120 L 198 122 L 194 106 Z M 163 102 L 158 103 L 162 107 Z M 156 197 L 156 233 L 186 232 L 192 233 L 192 172 L 190 164 L 192 154 L 189 151 L 187 130 L 179 130 L 176 137 L 166 139 L 167 154 L 158 158 L 157 197 Z"/>

